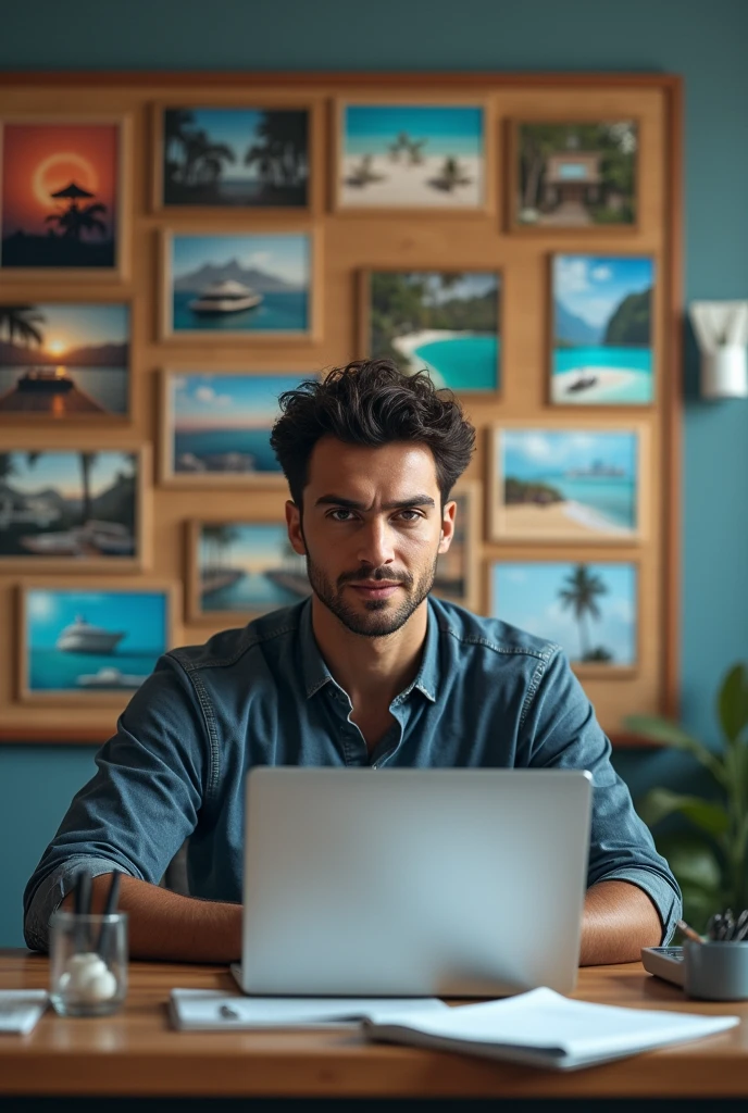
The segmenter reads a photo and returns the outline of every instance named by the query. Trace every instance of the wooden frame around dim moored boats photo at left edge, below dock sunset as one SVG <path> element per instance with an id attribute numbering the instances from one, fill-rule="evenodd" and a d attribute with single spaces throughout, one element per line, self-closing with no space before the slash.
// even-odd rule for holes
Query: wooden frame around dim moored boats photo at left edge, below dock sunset
<path id="1" fill-rule="evenodd" d="M 9 453 L 29 451 L 28 444 L 11 447 Z M 118 572 L 141 572 L 150 568 L 152 562 L 152 489 L 151 451 L 149 444 L 137 445 L 87 445 L 85 449 L 72 449 L 65 444 L 46 444 L 41 452 L 66 452 L 75 455 L 85 452 L 127 453 L 137 459 L 137 476 L 135 487 L 135 556 L 0 556 L 0 575 L 3 572 L 76 572 L 90 574 L 117 574 Z"/>

